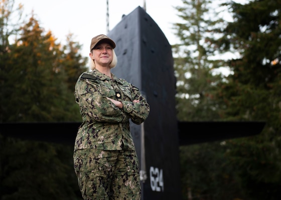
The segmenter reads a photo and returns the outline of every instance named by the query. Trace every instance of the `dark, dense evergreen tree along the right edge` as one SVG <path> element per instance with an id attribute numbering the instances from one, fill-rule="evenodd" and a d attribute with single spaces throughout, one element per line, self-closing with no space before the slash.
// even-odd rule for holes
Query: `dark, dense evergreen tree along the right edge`
<path id="1" fill-rule="evenodd" d="M 246 199 L 280 199 L 281 186 L 281 1 L 231 2 L 234 21 L 219 39 L 240 57 L 229 62 L 233 74 L 218 85 L 227 120 L 263 120 L 262 133 L 227 142 L 229 165 L 235 166 Z M 273 60 L 275 60 L 273 62 Z"/>

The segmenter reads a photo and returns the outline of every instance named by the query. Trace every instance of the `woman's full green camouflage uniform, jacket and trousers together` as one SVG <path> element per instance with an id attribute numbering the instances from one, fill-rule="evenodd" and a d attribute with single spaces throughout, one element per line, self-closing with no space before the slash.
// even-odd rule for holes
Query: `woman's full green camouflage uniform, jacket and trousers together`
<path id="1" fill-rule="evenodd" d="M 74 169 L 84 199 L 141 199 L 129 118 L 141 124 L 150 107 L 138 88 L 112 77 L 94 69 L 77 80 L 75 97 L 83 122 L 75 140 Z M 121 101 L 123 108 L 106 97 Z"/>

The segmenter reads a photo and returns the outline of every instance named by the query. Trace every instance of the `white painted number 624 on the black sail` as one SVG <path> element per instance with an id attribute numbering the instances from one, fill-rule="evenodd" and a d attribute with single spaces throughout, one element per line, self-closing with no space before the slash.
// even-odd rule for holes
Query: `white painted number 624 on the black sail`
<path id="1" fill-rule="evenodd" d="M 163 169 L 150 167 L 150 186 L 153 191 L 164 191 Z"/>

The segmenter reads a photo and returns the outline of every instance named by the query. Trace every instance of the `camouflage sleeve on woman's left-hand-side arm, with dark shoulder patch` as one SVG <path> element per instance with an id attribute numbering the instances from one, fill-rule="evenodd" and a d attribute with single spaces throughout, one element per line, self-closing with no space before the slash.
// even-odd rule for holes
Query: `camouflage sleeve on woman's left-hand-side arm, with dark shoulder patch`
<path id="1" fill-rule="evenodd" d="M 79 78 L 75 85 L 75 97 L 82 117 L 88 121 L 124 122 L 129 119 L 128 114 L 101 94 L 96 81 Z"/>

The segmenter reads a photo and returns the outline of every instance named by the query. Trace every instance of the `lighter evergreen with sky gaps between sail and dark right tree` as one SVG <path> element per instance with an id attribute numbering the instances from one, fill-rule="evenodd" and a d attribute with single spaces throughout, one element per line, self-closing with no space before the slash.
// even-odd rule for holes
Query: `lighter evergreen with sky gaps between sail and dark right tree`
<path id="1" fill-rule="evenodd" d="M 218 51 L 212 42 L 219 34 L 222 19 L 211 12 L 210 0 L 183 0 L 177 6 L 182 23 L 174 24 L 181 43 L 173 45 L 177 77 L 177 111 L 179 120 L 219 119 L 218 104 L 213 92 L 222 74 L 215 69 L 224 66 L 223 60 L 211 60 Z"/>

